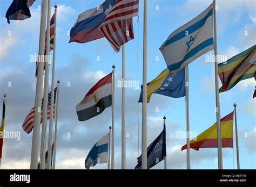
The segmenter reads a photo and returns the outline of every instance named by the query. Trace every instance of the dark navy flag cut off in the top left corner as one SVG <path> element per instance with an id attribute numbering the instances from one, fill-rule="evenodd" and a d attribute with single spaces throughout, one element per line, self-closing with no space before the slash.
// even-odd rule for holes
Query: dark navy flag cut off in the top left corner
<path id="1" fill-rule="evenodd" d="M 8 24 L 10 20 L 24 20 L 30 18 L 29 7 L 35 2 L 35 0 L 14 0 L 9 9 L 6 12 L 5 18 Z"/>

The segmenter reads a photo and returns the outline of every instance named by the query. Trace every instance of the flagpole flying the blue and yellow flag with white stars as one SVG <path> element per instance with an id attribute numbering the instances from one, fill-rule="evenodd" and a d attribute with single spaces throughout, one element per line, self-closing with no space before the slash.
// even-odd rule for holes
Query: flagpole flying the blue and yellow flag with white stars
<path id="1" fill-rule="evenodd" d="M 189 102 L 188 65 L 186 66 L 186 141 L 187 141 L 187 169 L 190 169 L 190 102 Z"/>

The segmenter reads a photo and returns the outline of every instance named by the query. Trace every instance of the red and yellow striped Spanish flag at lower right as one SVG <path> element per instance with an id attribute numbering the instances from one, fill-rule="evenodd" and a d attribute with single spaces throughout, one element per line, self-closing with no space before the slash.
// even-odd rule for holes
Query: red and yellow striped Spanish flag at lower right
<path id="1" fill-rule="evenodd" d="M 233 112 L 220 119 L 220 126 L 222 147 L 233 147 Z M 205 147 L 218 147 L 217 123 L 190 141 L 190 148 L 194 150 Z M 183 146 L 181 151 L 186 148 L 187 145 Z"/>

